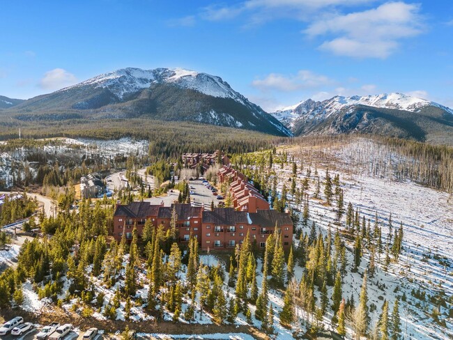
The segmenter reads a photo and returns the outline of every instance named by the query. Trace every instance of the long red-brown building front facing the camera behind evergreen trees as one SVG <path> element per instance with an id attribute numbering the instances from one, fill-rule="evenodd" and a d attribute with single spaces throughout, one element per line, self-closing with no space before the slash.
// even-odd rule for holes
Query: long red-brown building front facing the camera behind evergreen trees
<path id="1" fill-rule="evenodd" d="M 132 229 L 137 223 L 139 238 L 143 232 L 146 219 L 153 226 L 170 227 L 171 215 L 176 211 L 176 229 L 180 242 L 187 242 L 190 235 L 199 240 L 202 250 L 232 249 L 243 242 L 249 232 L 251 241 L 263 248 L 275 225 L 282 233 L 282 242 L 287 249 L 293 242 L 293 222 L 284 212 L 276 210 L 257 210 L 256 212 L 237 211 L 234 208 L 215 208 L 205 211 L 190 204 L 172 204 L 171 207 L 155 206 L 148 202 L 132 202 L 128 206 L 118 205 L 114 213 L 113 236 L 121 240 L 123 232 L 126 239 L 132 239 Z"/>

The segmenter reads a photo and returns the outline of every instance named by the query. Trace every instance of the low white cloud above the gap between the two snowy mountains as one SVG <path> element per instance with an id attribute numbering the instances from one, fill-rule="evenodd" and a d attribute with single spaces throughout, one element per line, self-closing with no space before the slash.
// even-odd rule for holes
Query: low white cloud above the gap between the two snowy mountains
<path id="1" fill-rule="evenodd" d="M 252 86 L 262 91 L 277 90 L 282 92 L 298 91 L 304 88 L 317 88 L 333 84 L 334 81 L 325 75 L 316 75 L 309 70 L 300 70 L 297 75 L 279 75 L 270 73 L 263 79 L 255 79 Z"/>

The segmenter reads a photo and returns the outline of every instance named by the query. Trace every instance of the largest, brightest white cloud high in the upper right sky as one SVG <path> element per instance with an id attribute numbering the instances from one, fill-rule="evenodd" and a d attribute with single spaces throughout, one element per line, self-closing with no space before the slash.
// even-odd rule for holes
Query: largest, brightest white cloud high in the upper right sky
<path id="1" fill-rule="evenodd" d="M 386 58 L 399 40 L 422 33 L 420 6 L 387 2 L 378 8 L 318 20 L 303 33 L 309 37 L 331 35 L 321 49 L 341 56 Z"/>

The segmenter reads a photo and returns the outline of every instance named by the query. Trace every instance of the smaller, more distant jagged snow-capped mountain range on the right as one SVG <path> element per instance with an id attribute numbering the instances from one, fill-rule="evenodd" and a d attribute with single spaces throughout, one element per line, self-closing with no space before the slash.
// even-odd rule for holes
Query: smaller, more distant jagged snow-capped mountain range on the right
<path id="1" fill-rule="evenodd" d="M 453 109 L 404 93 L 308 99 L 273 116 L 293 134 L 370 132 L 424 140 L 429 129 L 452 127 Z M 416 125 L 416 126 L 415 126 Z M 436 127 L 436 128 L 438 128 Z"/>

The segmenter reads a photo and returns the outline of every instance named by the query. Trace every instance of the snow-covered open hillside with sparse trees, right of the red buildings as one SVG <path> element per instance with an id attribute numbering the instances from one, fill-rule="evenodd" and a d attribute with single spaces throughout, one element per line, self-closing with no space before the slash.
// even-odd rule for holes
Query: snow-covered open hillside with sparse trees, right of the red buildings
<path id="1" fill-rule="evenodd" d="M 291 152 L 290 152 L 291 155 Z M 305 160 L 306 161 L 306 160 Z M 300 169 L 300 160 L 295 155 L 295 162 Z M 326 165 L 326 164 L 324 164 Z M 279 180 L 277 190 L 282 190 L 283 183 L 291 187 L 292 164 L 283 169 L 277 164 L 275 171 Z M 325 169 L 318 167 L 318 176 L 325 178 Z M 366 173 L 366 171 L 363 171 Z M 312 167 L 312 179 L 314 176 Z M 368 294 L 369 304 L 376 304 L 376 311 L 371 315 L 371 320 L 377 320 L 382 310 L 383 299 L 390 302 L 390 311 L 396 297 L 400 299 L 401 325 L 404 333 L 411 339 L 448 339 L 453 336 L 452 320 L 447 319 L 447 327 L 440 327 L 433 323 L 431 310 L 436 307 L 429 301 L 420 301 L 411 295 L 411 291 L 421 288 L 427 295 L 436 295 L 443 291 L 447 297 L 453 294 L 453 203 L 448 202 L 449 195 L 445 192 L 423 187 L 410 181 L 397 182 L 376 178 L 374 176 L 354 174 L 346 171 L 330 171 L 330 176 L 339 173 L 341 188 L 344 190 L 344 203 L 353 203 L 354 209 L 358 208 L 360 217 L 363 215 L 371 220 L 374 225 L 377 212 L 379 225 L 382 228 L 383 240 L 388 234 L 388 218 L 392 213 L 393 230 L 403 224 L 404 242 L 403 252 L 398 263 L 391 263 L 387 272 L 378 266 L 376 275 L 369 279 Z M 305 177 L 305 171 L 298 171 L 298 184 Z M 310 196 L 314 192 L 314 181 L 310 180 Z M 321 186 L 321 200 L 310 199 L 309 211 L 311 226 L 316 222 L 319 231 L 324 235 L 328 231 L 328 224 L 332 224 L 334 232 L 335 202 L 331 207 L 325 205 L 323 199 L 323 186 Z M 344 220 L 345 217 L 343 217 Z M 304 229 L 309 232 L 309 228 Z M 352 244 L 349 245 L 350 247 Z M 352 252 L 347 252 L 348 263 L 352 263 Z M 383 261 L 381 256 L 381 262 Z M 369 254 L 362 257 L 360 269 L 356 273 L 348 271 L 343 284 L 343 297 L 354 295 L 358 301 L 362 285 L 362 273 L 369 262 Z M 350 265 L 349 265 L 350 267 Z M 300 270 L 300 269 L 299 269 Z M 298 268 L 295 268 L 296 279 Z M 329 294 L 332 293 L 330 287 Z M 407 301 L 401 301 L 403 293 Z M 281 299 L 280 299 L 281 301 Z M 417 304 L 417 307 L 415 306 Z M 440 308 L 444 313 L 445 308 Z M 331 318 L 331 316 L 330 316 Z M 328 320 L 326 320 L 328 325 Z M 351 333 L 349 334 L 352 335 Z"/>

